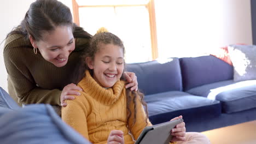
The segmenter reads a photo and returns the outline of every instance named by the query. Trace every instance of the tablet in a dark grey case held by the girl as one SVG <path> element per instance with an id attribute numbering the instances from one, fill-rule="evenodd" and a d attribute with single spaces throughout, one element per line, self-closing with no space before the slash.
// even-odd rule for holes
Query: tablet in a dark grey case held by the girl
<path id="1" fill-rule="evenodd" d="M 169 144 L 172 139 L 171 129 L 183 122 L 182 118 L 145 127 L 135 144 Z"/>

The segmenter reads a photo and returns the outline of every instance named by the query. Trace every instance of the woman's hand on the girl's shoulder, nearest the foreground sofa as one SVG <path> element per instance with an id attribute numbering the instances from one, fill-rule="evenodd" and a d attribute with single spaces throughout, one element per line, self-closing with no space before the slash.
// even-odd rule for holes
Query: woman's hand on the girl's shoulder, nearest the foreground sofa
<path id="1" fill-rule="evenodd" d="M 61 92 L 61 97 L 60 97 L 61 106 L 64 106 L 64 107 L 67 106 L 67 103 L 65 103 L 65 100 L 75 99 L 75 97 L 72 95 L 80 95 L 80 93 L 77 91 L 83 91 L 83 89 L 78 87 L 74 83 L 71 83 L 71 84 L 65 86 Z"/>

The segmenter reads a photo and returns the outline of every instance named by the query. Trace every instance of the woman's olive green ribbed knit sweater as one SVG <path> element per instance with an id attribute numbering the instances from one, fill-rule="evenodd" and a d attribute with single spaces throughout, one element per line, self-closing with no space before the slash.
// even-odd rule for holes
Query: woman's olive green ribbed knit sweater
<path id="1" fill-rule="evenodd" d="M 60 105 L 63 87 L 71 83 L 70 76 L 89 39 L 75 39 L 75 50 L 63 67 L 46 61 L 40 52 L 34 53 L 29 40 L 21 34 L 11 34 L 5 40 L 4 63 L 8 73 L 8 91 L 22 104 L 46 103 Z"/>

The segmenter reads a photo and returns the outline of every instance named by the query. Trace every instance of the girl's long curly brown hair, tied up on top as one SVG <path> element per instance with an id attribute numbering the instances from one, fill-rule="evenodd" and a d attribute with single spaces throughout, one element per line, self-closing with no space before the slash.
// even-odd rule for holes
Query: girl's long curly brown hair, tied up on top
<path id="1" fill-rule="evenodd" d="M 118 45 L 121 49 L 123 49 L 123 52 L 125 53 L 125 47 L 123 44 L 123 41 L 121 41 L 121 39 L 119 37 L 117 37 L 117 35 L 109 33 L 109 32 L 101 32 L 101 33 L 97 33 L 95 34 L 90 41 L 90 46 L 88 47 L 88 49 L 86 49 L 81 57 L 81 61 L 79 63 L 79 68 L 77 70 L 75 70 L 76 75 L 77 75 L 77 79 L 76 84 L 83 79 L 83 77 L 85 76 L 85 70 L 88 69 L 90 71 L 90 74 L 93 75 L 93 71 L 91 69 L 89 69 L 89 67 L 86 65 L 85 62 L 85 58 L 86 57 L 91 57 L 92 59 L 94 59 L 95 57 L 95 53 L 99 51 L 99 47 L 98 45 L 100 44 L 113 44 L 113 45 Z M 125 66 L 125 62 L 124 62 L 124 66 Z M 124 75 L 121 76 L 121 80 L 125 80 Z M 133 107 L 132 109 L 134 110 L 133 113 L 133 123 L 132 126 L 135 124 L 136 122 L 136 114 L 137 114 L 137 98 L 139 99 L 139 101 L 142 103 L 142 105 L 145 108 L 146 111 L 146 123 L 148 123 L 147 119 L 148 119 L 148 108 L 147 108 L 147 104 L 145 103 L 144 99 L 144 94 L 137 91 L 130 91 L 129 88 L 126 89 L 126 109 L 127 109 L 127 122 L 129 122 L 129 119 L 131 118 L 131 102 L 133 103 Z"/>

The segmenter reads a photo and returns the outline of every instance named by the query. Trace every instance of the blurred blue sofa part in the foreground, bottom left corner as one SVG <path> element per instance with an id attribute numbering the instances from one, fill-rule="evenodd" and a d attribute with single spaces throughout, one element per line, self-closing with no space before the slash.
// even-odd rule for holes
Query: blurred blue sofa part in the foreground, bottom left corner
<path id="1" fill-rule="evenodd" d="M 10 109 L 9 109 L 10 110 Z M 0 117 L 1 143 L 89 143 L 56 115 L 50 105 L 28 105 Z"/>

